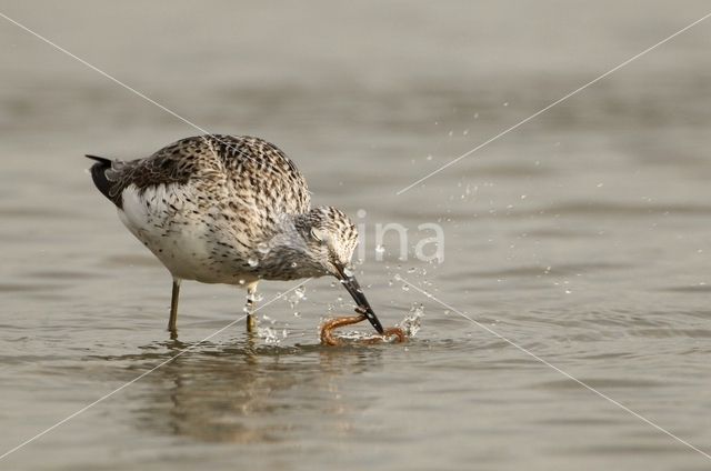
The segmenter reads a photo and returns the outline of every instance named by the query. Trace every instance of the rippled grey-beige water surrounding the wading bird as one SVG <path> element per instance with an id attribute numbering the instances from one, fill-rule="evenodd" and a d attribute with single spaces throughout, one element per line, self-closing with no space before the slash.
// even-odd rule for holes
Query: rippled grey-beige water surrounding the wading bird
<path id="1" fill-rule="evenodd" d="M 321 279 L 250 339 L 219 331 L 243 292 L 186 283 L 169 340 L 170 278 L 81 156 L 199 131 L 0 19 L 0 454 L 142 375 L 0 469 L 710 469 L 561 371 L 711 452 L 711 23 L 395 194 L 707 10 L 3 2 L 199 127 L 279 144 L 364 230 L 383 323 L 424 314 L 407 344 L 320 347 L 351 312 Z M 392 233 L 378 260 L 385 223 L 407 260 Z M 425 223 L 442 263 L 413 257 Z"/>

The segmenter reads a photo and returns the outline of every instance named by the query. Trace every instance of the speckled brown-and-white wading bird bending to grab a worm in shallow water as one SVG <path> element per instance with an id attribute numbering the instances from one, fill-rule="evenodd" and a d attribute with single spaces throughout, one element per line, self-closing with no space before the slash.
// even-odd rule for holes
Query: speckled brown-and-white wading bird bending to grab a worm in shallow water
<path id="1" fill-rule="evenodd" d="M 152 156 L 97 161 L 94 184 L 119 218 L 172 274 L 168 330 L 177 334 L 182 280 L 243 285 L 253 330 L 260 280 L 331 274 L 382 334 L 350 262 L 358 231 L 332 207 L 311 208 L 307 182 L 276 146 L 258 138 L 207 134 Z"/>

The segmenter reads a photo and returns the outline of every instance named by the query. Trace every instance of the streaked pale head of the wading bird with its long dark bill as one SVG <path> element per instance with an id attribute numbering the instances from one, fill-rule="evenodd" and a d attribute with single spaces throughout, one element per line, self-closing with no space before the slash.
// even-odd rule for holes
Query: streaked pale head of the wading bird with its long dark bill
<path id="1" fill-rule="evenodd" d="M 356 224 L 336 208 L 318 207 L 298 217 L 297 230 L 304 243 L 303 251 L 320 271 L 319 274 L 328 273 L 338 278 L 358 304 L 359 311 L 382 334 L 382 325 L 351 268 L 351 258 L 358 244 Z"/>

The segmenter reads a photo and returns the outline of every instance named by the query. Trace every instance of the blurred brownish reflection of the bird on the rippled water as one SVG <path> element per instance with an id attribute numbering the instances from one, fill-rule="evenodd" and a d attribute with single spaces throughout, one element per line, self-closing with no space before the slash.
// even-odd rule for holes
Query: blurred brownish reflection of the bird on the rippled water
<path id="1" fill-rule="evenodd" d="M 130 361 L 131 369 L 144 360 L 150 369 L 189 347 L 154 343 L 142 354 L 112 360 Z M 139 404 L 141 430 L 206 442 L 273 442 L 317 428 L 348 434 L 349 418 L 369 400 L 347 384 L 377 368 L 380 354 L 377 347 L 203 343 L 141 379 L 130 400 Z"/>

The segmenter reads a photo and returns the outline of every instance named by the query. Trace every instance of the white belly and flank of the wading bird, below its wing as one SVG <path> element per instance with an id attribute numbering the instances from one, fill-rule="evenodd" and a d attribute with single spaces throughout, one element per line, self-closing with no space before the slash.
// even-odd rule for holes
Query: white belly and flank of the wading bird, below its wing
<path id="1" fill-rule="evenodd" d="M 189 201 L 193 191 L 189 186 L 161 184 L 140 192 L 131 186 L 122 193 L 119 218 L 176 278 L 228 284 L 253 281 L 253 275 L 239 273 L 230 257 L 216 257 L 214 219 Z"/>

